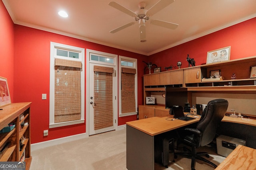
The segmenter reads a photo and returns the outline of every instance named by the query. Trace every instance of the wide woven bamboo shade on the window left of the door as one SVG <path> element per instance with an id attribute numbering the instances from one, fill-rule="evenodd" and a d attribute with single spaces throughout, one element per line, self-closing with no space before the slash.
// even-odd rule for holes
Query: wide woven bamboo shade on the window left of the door
<path id="1" fill-rule="evenodd" d="M 55 59 L 54 123 L 81 119 L 82 63 Z"/>

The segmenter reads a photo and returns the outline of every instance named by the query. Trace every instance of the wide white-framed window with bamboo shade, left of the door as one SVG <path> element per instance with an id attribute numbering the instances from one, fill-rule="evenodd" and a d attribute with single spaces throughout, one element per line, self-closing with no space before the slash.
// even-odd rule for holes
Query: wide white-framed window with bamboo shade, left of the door
<path id="1" fill-rule="evenodd" d="M 51 42 L 50 128 L 84 123 L 84 49 Z"/>

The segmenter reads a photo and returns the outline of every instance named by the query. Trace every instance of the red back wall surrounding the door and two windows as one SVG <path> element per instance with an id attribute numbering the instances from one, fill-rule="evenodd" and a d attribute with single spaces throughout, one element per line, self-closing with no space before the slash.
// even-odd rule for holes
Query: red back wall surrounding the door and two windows
<path id="1" fill-rule="evenodd" d="M 49 79 L 50 79 L 50 41 L 133 57 L 138 59 L 138 104 L 142 104 L 142 75 L 146 58 L 144 55 L 90 43 L 87 41 L 58 35 L 38 29 L 15 25 L 14 51 L 14 102 L 32 102 L 31 107 L 31 143 L 76 135 L 86 132 L 86 125 L 70 125 L 49 129 Z M 85 72 L 86 74 L 86 72 Z M 47 100 L 42 100 L 42 94 Z M 136 115 L 119 117 L 118 125 L 136 120 Z M 49 129 L 49 135 L 43 137 L 43 130 Z"/>

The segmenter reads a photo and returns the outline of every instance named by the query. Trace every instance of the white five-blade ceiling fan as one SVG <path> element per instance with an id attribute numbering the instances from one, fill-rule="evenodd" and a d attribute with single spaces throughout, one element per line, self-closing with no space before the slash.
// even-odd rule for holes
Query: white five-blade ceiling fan
<path id="1" fill-rule="evenodd" d="M 152 6 L 149 10 L 146 10 L 146 3 L 140 2 L 139 3 L 139 10 L 136 12 L 132 12 L 131 10 L 125 8 L 124 6 L 116 3 L 116 2 L 110 2 L 108 5 L 112 6 L 113 8 L 116 8 L 117 10 L 120 10 L 121 12 L 124 12 L 125 14 L 128 14 L 129 16 L 134 17 L 134 20 L 139 23 L 140 27 L 140 41 L 145 42 L 146 41 L 146 27 L 145 22 L 149 20 L 150 16 L 153 16 L 166 6 L 170 5 L 174 0 L 160 0 L 154 6 Z M 116 29 L 113 29 L 110 31 L 110 33 L 116 33 L 124 28 L 127 28 L 131 25 L 134 25 L 136 22 L 130 22 L 125 25 L 122 25 L 121 27 L 118 27 Z M 165 27 L 168 29 L 176 29 L 178 27 L 178 24 L 171 23 L 167 21 L 161 21 L 161 20 L 150 20 L 150 23 L 153 25 L 158 25 L 160 27 Z"/>

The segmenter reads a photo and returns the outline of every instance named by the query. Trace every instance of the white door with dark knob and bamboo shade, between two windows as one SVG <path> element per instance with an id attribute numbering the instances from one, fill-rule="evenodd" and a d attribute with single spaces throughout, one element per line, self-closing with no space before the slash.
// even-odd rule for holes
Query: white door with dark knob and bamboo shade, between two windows
<path id="1" fill-rule="evenodd" d="M 116 128 L 116 68 L 89 63 L 89 135 Z M 87 130 L 86 130 L 87 131 Z"/>

